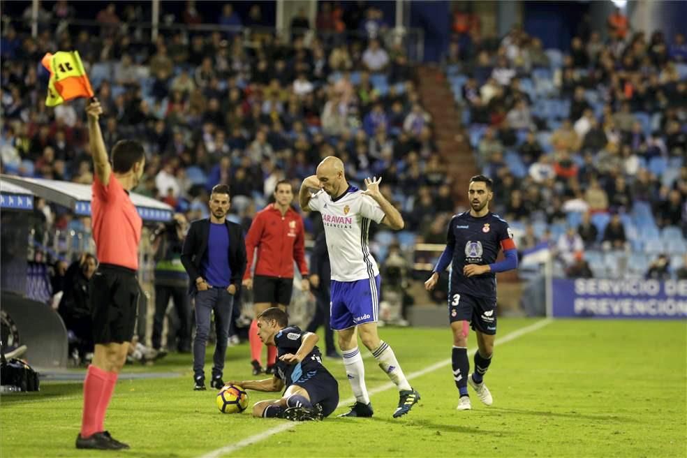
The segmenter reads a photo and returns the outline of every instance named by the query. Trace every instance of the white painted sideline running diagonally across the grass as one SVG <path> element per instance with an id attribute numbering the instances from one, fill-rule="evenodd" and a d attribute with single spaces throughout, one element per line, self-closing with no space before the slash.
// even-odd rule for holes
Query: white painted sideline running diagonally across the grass
<path id="1" fill-rule="evenodd" d="M 524 336 L 524 334 L 529 334 L 530 332 L 540 330 L 542 327 L 545 327 L 545 326 L 551 324 L 552 321 L 553 320 L 551 318 L 545 318 L 544 320 L 538 321 L 537 323 L 533 323 L 532 325 L 522 327 L 519 330 L 505 334 L 505 336 L 503 336 L 499 339 L 496 339 L 496 341 L 494 342 L 494 346 L 499 345 L 499 344 L 506 344 L 512 340 L 517 339 L 518 337 Z M 477 351 L 477 348 L 472 348 L 469 351 L 468 355 L 469 356 L 474 355 L 475 351 Z M 447 360 L 443 360 L 443 361 L 439 361 L 439 362 L 436 362 L 434 364 L 431 364 L 430 366 L 427 366 L 424 369 L 420 369 L 419 371 L 415 371 L 415 372 L 409 374 L 408 376 L 406 376 L 406 378 L 408 380 L 411 380 L 413 378 L 418 378 L 418 377 L 424 376 L 426 374 L 429 374 L 432 371 L 436 371 L 436 369 L 441 369 L 442 367 L 448 366 L 449 364 L 451 364 L 450 358 L 448 358 Z M 383 383 L 382 385 L 379 385 L 378 387 L 374 387 L 371 390 L 368 390 L 368 392 L 369 392 L 370 397 L 372 397 L 372 396 L 374 396 L 374 394 L 386 391 L 392 387 L 396 387 L 396 385 L 394 385 L 394 383 L 392 383 L 392 382 L 387 382 L 387 383 Z M 339 406 L 337 406 L 337 408 L 339 408 L 341 406 L 346 406 L 347 404 L 352 404 L 353 402 L 355 402 L 355 398 L 353 398 L 353 397 L 348 398 L 348 399 L 344 399 L 343 401 L 339 402 Z M 259 434 L 254 434 L 253 436 L 245 438 L 242 441 L 238 441 L 237 443 L 233 443 L 232 445 L 226 445 L 225 447 L 218 448 L 216 450 L 212 450 L 212 452 L 207 452 L 205 455 L 201 455 L 199 458 L 218 458 L 218 457 L 221 457 L 222 455 L 229 455 L 230 453 L 236 452 L 237 450 L 241 450 L 244 447 L 248 447 L 249 445 L 253 445 L 254 443 L 258 443 L 260 441 L 264 441 L 265 439 L 267 439 L 271 436 L 274 436 L 274 434 L 279 434 L 282 431 L 286 431 L 287 429 L 295 428 L 298 425 L 304 424 L 304 423 L 306 423 L 306 422 L 282 423 L 276 427 L 267 429 L 266 431 L 263 431 Z"/>

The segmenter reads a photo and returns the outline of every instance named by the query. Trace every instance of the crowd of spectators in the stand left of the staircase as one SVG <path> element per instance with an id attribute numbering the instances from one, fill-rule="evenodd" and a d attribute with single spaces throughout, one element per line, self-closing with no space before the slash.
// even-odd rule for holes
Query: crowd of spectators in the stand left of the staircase
<path id="1" fill-rule="evenodd" d="M 73 13 L 60 1 L 52 13 L 41 10 L 41 20 L 58 17 L 59 6 Z M 242 18 L 227 4 L 219 24 L 261 25 L 260 6 L 250 11 Z M 176 29 L 150 42 L 145 33 L 119 27 L 135 14 L 135 6 L 122 17 L 114 4 L 105 6 L 96 20 L 117 27 L 100 27 L 98 34 L 73 25 L 41 27 L 34 39 L 21 22 L 3 29 L 3 172 L 91 182 L 84 102 L 46 108 L 47 72 L 38 66 L 45 52 L 75 49 L 105 110 L 106 145 L 120 138 L 145 145 L 147 166 L 135 191 L 189 219 L 207 214 L 207 191 L 224 183 L 234 216 L 249 223 L 274 183 L 293 179 L 298 189 L 329 155 L 342 158 L 354 182 L 382 175 L 383 192 L 407 212 L 413 200 L 401 190 L 440 195 L 447 178 L 431 119 L 404 43 L 387 38 L 380 10 L 344 15 L 325 3 L 317 17 L 328 33 L 323 38 L 303 33 L 309 24 L 301 11 L 290 41 L 265 29 L 250 35 Z M 192 1 L 180 19 L 189 26 L 209 22 Z M 347 36 L 347 28 L 358 32 Z M 436 169 L 431 182 L 422 179 L 426 167 Z M 57 215 L 55 223 L 64 226 L 65 219 Z"/>

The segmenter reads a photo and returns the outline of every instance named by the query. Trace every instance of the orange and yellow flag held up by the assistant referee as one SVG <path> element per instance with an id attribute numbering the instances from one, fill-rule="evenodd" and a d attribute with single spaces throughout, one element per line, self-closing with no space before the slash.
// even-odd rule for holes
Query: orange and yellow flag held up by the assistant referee
<path id="1" fill-rule="evenodd" d="M 54 107 L 73 98 L 94 95 L 78 51 L 48 52 L 40 62 L 50 72 L 45 105 Z"/>

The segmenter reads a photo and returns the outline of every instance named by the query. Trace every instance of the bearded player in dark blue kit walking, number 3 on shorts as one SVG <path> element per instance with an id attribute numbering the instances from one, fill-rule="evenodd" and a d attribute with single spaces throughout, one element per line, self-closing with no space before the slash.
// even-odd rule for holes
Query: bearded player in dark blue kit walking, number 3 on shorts
<path id="1" fill-rule="evenodd" d="M 496 272 L 517 268 L 517 250 L 508 223 L 489 212 L 492 200 L 492 180 L 476 175 L 470 179 L 468 189 L 471 210 L 454 216 L 448 226 L 446 248 L 434 272 L 424 282 L 433 290 L 449 264 L 448 310 L 453 332 L 453 377 L 460 393 L 457 409 L 472 408 L 468 396 L 468 383 L 480 400 L 491 406 L 492 394 L 482 377 L 492 362 L 496 335 Z M 505 259 L 496 262 L 498 250 Z M 468 323 L 477 334 L 478 351 L 475 353 L 475 372 L 469 374 Z"/>

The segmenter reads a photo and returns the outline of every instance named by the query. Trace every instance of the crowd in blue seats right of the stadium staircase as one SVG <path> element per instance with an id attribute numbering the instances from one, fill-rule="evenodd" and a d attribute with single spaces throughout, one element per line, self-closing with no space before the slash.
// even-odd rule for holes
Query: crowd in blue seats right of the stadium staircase
<path id="1" fill-rule="evenodd" d="M 642 250 L 668 226 L 687 237 L 685 38 L 633 31 L 620 11 L 608 27 L 604 40 L 587 17 L 559 52 L 517 26 L 483 37 L 458 12 L 445 58 L 497 212 L 522 226 L 523 249 L 550 238 L 565 268 L 585 249 Z"/>

